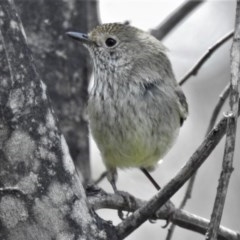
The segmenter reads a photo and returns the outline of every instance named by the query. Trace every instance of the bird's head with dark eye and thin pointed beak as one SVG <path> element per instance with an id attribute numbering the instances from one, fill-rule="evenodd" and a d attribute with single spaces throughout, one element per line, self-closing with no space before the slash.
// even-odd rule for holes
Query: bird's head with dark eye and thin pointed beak
<path id="1" fill-rule="evenodd" d="M 99 25 L 88 34 L 67 32 L 67 35 L 87 47 L 94 63 L 103 66 L 126 66 L 136 59 L 164 51 L 163 45 L 150 34 L 120 23 Z"/>

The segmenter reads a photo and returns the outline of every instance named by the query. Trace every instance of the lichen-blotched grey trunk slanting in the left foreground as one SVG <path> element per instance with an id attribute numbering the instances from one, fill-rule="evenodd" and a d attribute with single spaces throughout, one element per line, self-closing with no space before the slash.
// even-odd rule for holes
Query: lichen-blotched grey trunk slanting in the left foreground
<path id="1" fill-rule="evenodd" d="M 13 2 L 1 0 L 0 239 L 116 239 L 88 207 L 26 40 Z M 63 76 L 46 68 L 49 81 Z"/>

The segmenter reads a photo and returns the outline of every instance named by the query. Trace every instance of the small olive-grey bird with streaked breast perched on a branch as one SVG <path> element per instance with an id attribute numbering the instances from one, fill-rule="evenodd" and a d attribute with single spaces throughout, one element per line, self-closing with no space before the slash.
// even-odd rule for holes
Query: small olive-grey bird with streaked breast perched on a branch
<path id="1" fill-rule="evenodd" d="M 130 25 L 67 32 L 90 52 L 90 130 L 115 192 L 117 168 L 154 169 L 172 147 L 188 105 L 160 41 Z"/>

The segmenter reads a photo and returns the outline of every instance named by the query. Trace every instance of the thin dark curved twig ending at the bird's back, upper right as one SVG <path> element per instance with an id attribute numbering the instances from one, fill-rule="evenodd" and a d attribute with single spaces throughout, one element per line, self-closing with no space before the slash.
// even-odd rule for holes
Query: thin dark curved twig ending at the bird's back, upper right
<path id="1" fill-rule="evenodd" d="M 227 42 L 233 36 L 233 31 L 226 34 L 220 40 L 218 40 L 212 47 L 210 47 L 197 61 L 196 64 L 189 70 L 189 72 L 179 81 L 179 85 L 183 85 L 191 76 L 197 75 L 202 65 L 209 59 L 209 57 L 225 42 Z"/>

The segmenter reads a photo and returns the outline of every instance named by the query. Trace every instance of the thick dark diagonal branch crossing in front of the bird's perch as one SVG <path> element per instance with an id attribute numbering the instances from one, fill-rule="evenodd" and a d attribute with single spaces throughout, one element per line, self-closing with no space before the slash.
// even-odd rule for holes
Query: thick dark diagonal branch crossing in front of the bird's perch
<path id="1" fill-rule="evenodd" d="M 169 181 L 147 204 L 127 217 L 117 227 L 116 231 L 120 239 L 124 239 L 143 222 L 150 218 L 170 197 L 179 190 L 183 184 L 197 171 L 213 149 L 217 146 L 226 132 L 227 117 L 224 116 L 215 128 L 208 134 L 192 157 L 177 175 Z"/>

